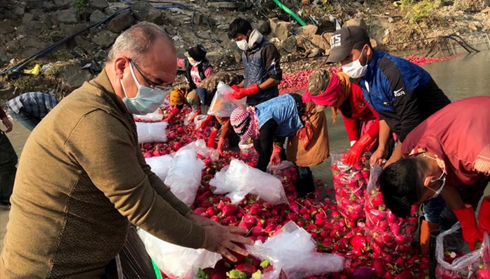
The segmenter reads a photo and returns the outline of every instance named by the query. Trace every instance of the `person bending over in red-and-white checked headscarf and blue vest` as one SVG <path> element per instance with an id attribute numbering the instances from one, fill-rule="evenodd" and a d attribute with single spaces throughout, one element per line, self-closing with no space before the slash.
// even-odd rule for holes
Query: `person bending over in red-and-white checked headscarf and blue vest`
<path id="1" fill-rule="evenodd" d="M 230 117 L 231 126 L 240 139 L 252 139 L 259 153 L 257 169 L 266 171 L 268 164 L 279 164 L 286 157 L 299 167 L 297 191 L 306 195 L 314 190 L 310 166 L 328 157 L 328 131 L 323 112 L 313 103 L 303 103 L 302 96 L 288 93 L 257 106 L 236 108 Z M 288 156 L 283 149 L 288 138 Z M 306 175 L 305 175 L 306 174 Z"/>

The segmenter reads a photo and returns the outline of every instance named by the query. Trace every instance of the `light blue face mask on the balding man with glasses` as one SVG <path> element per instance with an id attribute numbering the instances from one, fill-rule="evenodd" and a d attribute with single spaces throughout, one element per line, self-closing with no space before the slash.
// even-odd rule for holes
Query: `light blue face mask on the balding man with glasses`
<path id="1" fill-rule="evenodd" d="M 138 87 L 138 93 L 136 93 L 134 98 L 129 98 L 126 89 L 124 89 L 124 84 L 122 84 L 122 79 L 120 79 L 122 91 L 124 92 L 122 103 L 124 103 L 127 110 L 134 115 L 146 115 L 147 113 L 154 112 L 160 105 L 162 105 L 168 92 L 141 85 L 134 75 L 131 63 L 129 63 L 129 70 L 133 76 L 134 83 Z"/>

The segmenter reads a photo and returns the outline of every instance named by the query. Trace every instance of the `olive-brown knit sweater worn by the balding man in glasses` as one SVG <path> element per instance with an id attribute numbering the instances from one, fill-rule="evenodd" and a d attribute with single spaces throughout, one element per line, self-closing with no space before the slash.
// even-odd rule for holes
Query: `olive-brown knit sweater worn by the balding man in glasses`
<path id="1" fill-rule="evenodd" d="M 0 278 L 99 278 L 129 222 L 200 248 L 204 228 L 150 171 L 132 115 L 107 74 L 84 83 L 32 131 L 15 178 Z"/>

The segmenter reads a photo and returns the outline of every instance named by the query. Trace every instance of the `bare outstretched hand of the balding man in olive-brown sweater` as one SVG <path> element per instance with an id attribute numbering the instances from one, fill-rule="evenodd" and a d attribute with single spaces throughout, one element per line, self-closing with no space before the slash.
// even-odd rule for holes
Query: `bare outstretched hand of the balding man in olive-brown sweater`
<path id="1" fill-rule="evenodd" d="M 230 261 L 236 261 L 236 257 L 231 252 L 236 252 L 243 256 L 248 256 L 248 252 L 236 245 L 236 243 L 243 243 L 245 245 L 253 245 L 254 242 L 251 239 L 245 238 L 238 234 L 247 233 L 246 228 L 233 227 L 233 226 L 205 226 L 206 240 L 202 248 L 211 252 L 221 254 Z"/>

